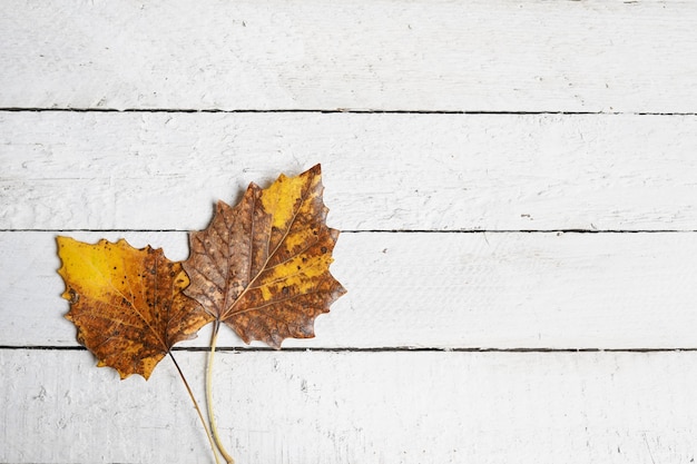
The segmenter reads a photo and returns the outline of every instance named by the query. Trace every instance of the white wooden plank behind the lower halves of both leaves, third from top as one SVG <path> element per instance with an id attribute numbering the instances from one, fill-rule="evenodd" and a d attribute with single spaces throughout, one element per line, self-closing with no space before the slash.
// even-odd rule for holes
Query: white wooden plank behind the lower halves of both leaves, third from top
<path id="1" fill-rule="evenodd" d="M 187 256 L 184 233 L 67 235 Z M 343 234 L 334 255 L 348 294 L 285 347 L 695 346 L 695 233 Z M 53 233 L 0 233 L 0 346 L 76 346 L 58 267 Z"/>

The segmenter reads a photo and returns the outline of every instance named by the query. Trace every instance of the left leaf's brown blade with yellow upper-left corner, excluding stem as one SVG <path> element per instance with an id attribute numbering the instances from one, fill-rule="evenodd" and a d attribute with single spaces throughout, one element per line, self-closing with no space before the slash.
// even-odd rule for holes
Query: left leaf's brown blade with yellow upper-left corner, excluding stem
<path id="1" fill-rule="evenodd" d="M 121 239 L 96 245 L 57 237 L 70 302 L 66 318 L 78 328 L 78 342 L 121 378 L 146 379 L 169 348 L 213 318 L 181 290 L 189 279 L 180 263 L 161 248 L 132 248 Z"/>

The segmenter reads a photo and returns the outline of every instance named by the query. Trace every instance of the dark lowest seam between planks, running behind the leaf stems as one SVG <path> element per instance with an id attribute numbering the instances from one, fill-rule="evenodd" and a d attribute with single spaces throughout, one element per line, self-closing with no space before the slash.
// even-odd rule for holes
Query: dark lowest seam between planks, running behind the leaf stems
<path id="1" fill-rule="evenodd" d="M 55 351 L 55 352 L 85 352 L 87 348 L 82 346 L 50 346 L 50 345 L 33 345 L 33 346 L 11 346 L 2 345 L 0 349 L 4 351 Z M 200 353 L 208 352 L 210 348 L 202 347 L 174 347 L 174 352 L 192 352 Z M 263 346 L 219 346 L 217 352 L 269 352 L 269 353 L 674 353 L 674 352 L 695 352 L 697 347 L 669 347 L 669 348 L 492 348 L 492 347 L 459 347 L 459 348 L 441 348 L 441 347 L 412 347 L 412 346 L 395 346 L 395 347 L 369 347 L 369 348 L 321 348 L 321 347 L 291 347 L 274 349 Z"/>

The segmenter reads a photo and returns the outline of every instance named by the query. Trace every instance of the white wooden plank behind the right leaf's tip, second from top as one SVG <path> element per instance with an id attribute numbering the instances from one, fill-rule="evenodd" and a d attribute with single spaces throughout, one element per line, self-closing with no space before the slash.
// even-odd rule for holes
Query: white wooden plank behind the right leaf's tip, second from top
<path id="1" fill-rule="evenodd" d="M 316 162 L 344 230 L 697 229 L 694 116 L 0 112 L 0 144 L 3 229 L 200 229 Z"/>

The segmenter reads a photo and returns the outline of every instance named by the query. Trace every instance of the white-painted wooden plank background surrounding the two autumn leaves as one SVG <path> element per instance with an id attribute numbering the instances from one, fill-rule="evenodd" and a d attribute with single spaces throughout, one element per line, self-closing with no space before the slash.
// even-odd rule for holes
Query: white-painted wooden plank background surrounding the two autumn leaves
<path id="1" fill-rule="evenodd" d="M 0 42 L 0 462 L 212 463 L 171 363 L 77 344 L 55 237 L 184 259 L 316 162 L 348 294 L 223 336 L 239 464 L 697 458 L 697 3 L 12 1 Z"/>

